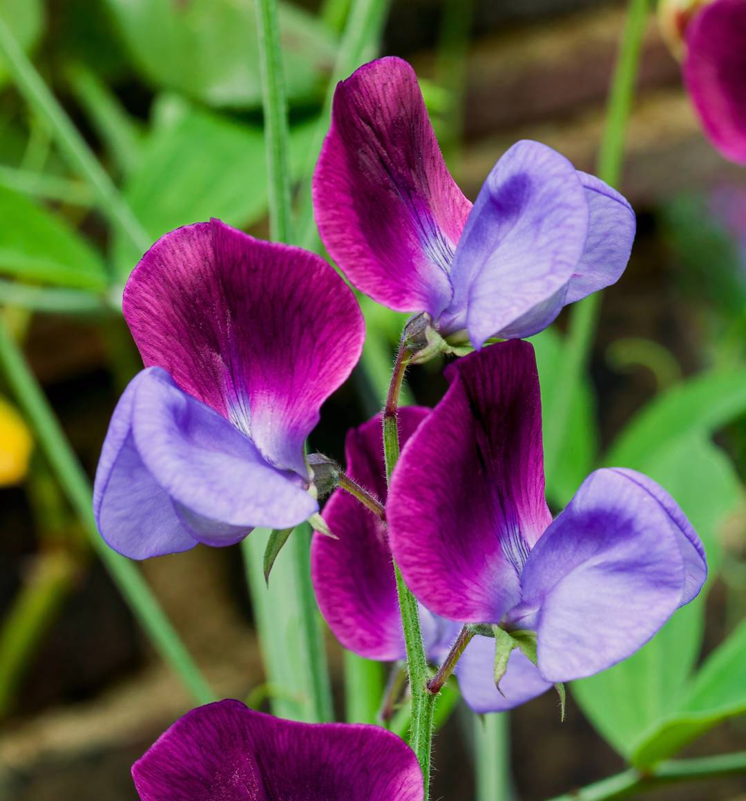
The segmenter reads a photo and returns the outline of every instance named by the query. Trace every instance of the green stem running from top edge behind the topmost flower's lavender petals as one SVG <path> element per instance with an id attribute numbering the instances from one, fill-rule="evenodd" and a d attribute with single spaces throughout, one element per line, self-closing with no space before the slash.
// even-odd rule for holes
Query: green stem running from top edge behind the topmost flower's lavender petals
<path id="1" fill-rule="evenodd" d="M 647 25 L 649 0 L 630 0 L 624 25 L 614 78 L 611 83 L 606 125 L 599 151 L 598 173 L 611 186 L 619 183 L 624 160 L 624 139 L 627 134 L 632 98 L 639 68 L 639 55 Z M 557 466 L 567 424 L 571 413 L 573 392 L 587 366 L 599 317 L 599 292 L 576 303 L 571 312 L 567 339 L 564 345 L 561 379 L 554 388 L 554 396 L 546 420 L 548 437 L 553 445 L 544 465 L 547 475 Z"/>

